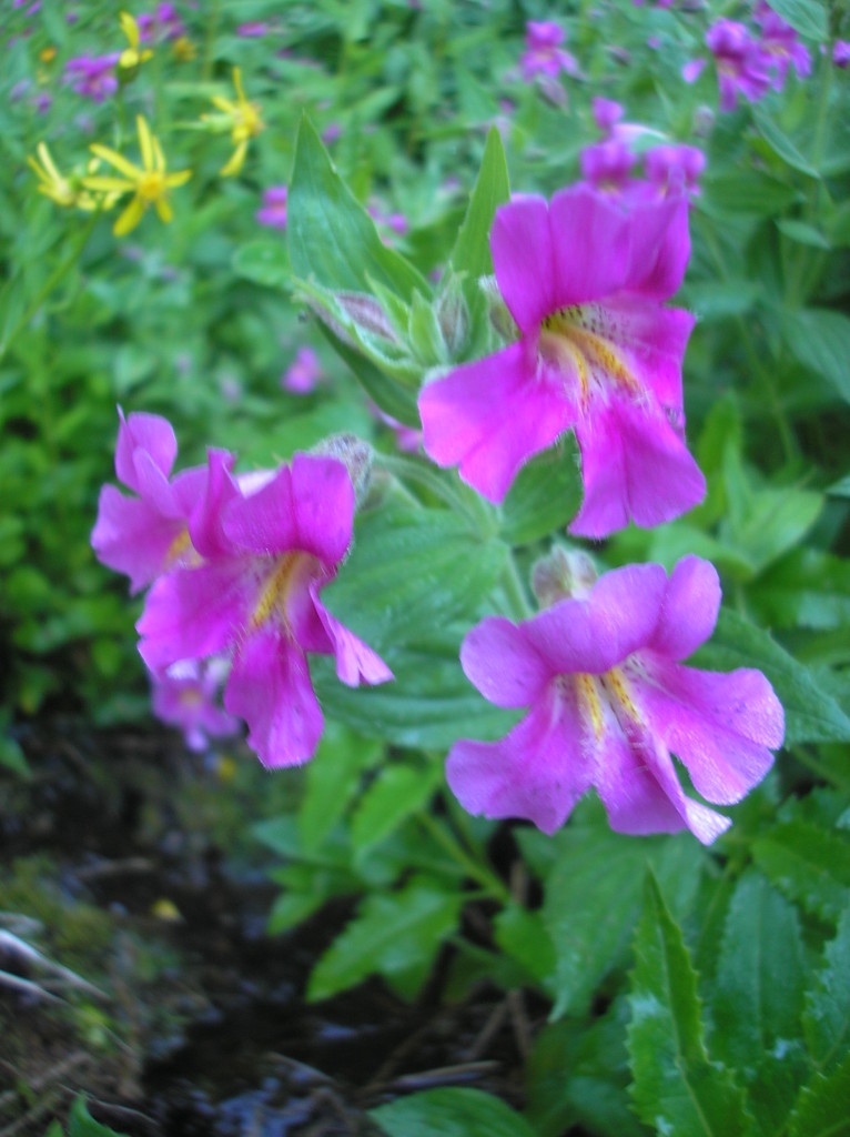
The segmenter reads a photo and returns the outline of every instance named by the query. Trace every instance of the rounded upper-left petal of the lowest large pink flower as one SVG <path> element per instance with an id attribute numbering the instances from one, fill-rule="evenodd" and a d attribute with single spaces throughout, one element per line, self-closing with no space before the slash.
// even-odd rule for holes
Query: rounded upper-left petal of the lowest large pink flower
<path id="1" fill-rule="evenodd" d="M 460 665 L 469 682 L 498 707 L 530 706 L 552 678 L 552 669 L 524 630 L 503 616 L 490 616 L 467 632 Z"/>

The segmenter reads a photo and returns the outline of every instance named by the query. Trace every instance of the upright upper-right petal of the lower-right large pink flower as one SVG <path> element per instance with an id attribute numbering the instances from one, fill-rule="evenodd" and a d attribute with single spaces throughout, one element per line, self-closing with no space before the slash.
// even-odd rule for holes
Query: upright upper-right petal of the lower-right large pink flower
<path id="1" fill-rule="evenodd" d="M 719 607 L 720 581 L 715 566 L 699 557 L 683 557 L 670 573 L 648 647 L 668 659 L 686 659 L 714 631 Z"/>

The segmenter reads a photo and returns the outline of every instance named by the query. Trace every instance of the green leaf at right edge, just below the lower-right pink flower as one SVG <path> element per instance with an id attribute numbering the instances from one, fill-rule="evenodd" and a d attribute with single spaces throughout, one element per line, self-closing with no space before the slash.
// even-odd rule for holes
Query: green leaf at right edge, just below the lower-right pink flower
<path id="1" fill-rule="evenodd" d="M 805 821 L 774 827 L 752 846 L 756 863 L 792 901 L 835 922 L 850 904 L 850 841 Z"/>

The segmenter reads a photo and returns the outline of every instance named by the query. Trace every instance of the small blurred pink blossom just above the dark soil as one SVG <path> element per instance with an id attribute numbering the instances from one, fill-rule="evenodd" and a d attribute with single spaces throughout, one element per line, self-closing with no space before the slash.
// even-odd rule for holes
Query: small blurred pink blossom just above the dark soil
<path id="1" fill-rule="evenodd" d="M 216 666 L 217 662 L 224 666 Z M 202 753 L 210 738 L 227 738 L 239 730 L 239 720 L 217 703 L 226 671 L 224 661 L 182 659 L 165 671 L 150 672 L 153 714 L 181 730 L 190 750 Z"/>

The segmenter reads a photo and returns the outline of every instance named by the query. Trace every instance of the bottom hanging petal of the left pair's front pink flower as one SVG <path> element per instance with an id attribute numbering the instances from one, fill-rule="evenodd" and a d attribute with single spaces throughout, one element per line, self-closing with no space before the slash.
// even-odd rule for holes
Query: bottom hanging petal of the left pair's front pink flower
<path id="1" fill-rule="evenodd" d="M 248 745 L 265 766 L 292 766 L 316 753 L 324 717 L 307 657 L 270 628 L 248 636 L 233 659 L 224 705 L 248 723 Z"/>

